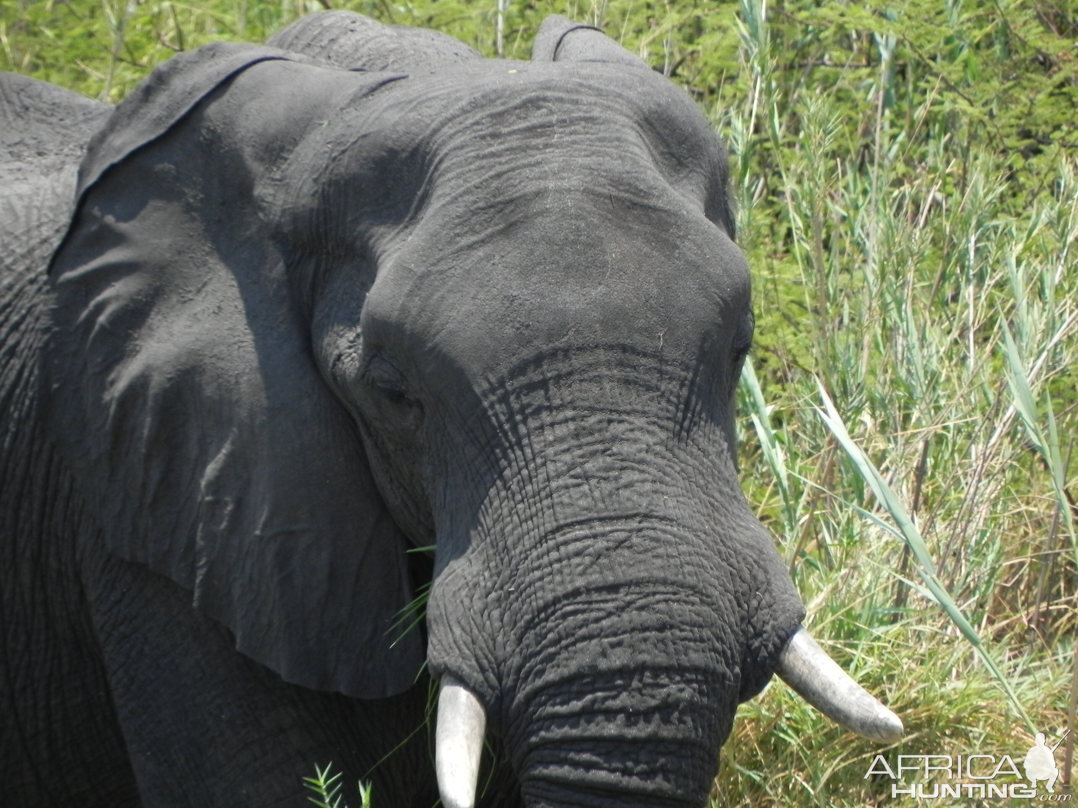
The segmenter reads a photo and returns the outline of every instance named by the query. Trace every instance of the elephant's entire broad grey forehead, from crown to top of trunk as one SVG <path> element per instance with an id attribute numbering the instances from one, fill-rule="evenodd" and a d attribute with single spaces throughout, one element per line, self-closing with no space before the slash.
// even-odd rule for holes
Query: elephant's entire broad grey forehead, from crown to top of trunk
<path id="1" fill-rule="evenodd" d="M 721 145 L 648 70 L 484 61 L 411 76 L 344 109 L 293 167 L 292 221 L 377 264 L 370 344 L 468 378 L 552 345 L 691 365 L 747 310 Z"/>

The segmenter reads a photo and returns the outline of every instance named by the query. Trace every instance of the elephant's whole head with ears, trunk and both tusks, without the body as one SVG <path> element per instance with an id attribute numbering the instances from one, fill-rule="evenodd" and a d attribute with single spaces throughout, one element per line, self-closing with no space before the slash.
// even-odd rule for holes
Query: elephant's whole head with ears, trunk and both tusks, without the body
<path id="1" fill-rule="evenodd" d="M 426 660 L 447 806 L 485 726 L 530 806 L 701 805 L 776 670 L 895 737 L 738 486 L 749 273 L 688 97 L 561 17 L 530 62 L 344 12 L 271 44 L 158 68 L 81 169 L 46 376 L 110 549 L 287 681 Z"/>

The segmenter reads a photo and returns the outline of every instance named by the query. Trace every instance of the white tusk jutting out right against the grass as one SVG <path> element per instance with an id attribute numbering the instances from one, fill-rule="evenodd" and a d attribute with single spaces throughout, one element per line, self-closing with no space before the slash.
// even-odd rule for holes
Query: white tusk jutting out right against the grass
<path id="1" fill-rule="evenodd" d="M 835 665 L 804 627 L 786 644 L 775 673 L 810 705 L 861 737 L 883 743 L 902 737 L 902 720 Z"/>

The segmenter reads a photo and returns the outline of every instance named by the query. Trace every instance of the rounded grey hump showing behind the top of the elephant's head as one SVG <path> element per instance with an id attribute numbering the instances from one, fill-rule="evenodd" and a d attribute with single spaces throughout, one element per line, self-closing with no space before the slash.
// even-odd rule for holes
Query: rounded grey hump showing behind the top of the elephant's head
<path id="1" fill-rule="evenodd" d="M 482 59 L 460 40 L 424 28 L 382 25 L 350 11 L 309 14 L 266 43 L 344 70 L 433 71 Z"/>

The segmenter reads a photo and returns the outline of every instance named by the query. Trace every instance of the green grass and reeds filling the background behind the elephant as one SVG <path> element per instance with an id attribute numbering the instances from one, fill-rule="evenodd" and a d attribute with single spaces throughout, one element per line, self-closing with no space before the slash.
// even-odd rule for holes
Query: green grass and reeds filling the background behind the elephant
<path id="1" fill-rule="evenodd" d="M 879 752 L 1020 761 L 1074 726 L 1074 0 L 508 0 L 500 42 L 497 0 L 0 0 L 0 69 L 115 103 L 331 4 L 519 59 L 550 13 L 596 24 L 730 147 L 744 486 L 814 633 L 909 732 L 880 750 L 773 684 L 716 805 L 887 804 Z"/>

